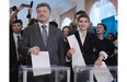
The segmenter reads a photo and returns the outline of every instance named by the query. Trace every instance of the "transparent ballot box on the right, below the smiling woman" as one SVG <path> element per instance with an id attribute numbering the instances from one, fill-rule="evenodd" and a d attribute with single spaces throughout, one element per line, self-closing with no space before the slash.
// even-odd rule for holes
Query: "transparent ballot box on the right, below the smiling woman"
<path id="1" fill-rule="evenodd" d="M 74 82 L 117 82 L 117 66 L 76 66 Z"/>

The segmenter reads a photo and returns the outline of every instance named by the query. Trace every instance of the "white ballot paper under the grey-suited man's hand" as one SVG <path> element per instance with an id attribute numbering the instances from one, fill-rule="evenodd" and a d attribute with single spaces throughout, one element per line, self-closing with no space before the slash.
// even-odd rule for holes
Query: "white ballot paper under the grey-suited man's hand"
<path id="1" fill-rule="evenodd" d="M 48 51 L 39 51 L 38 55 L 31 56 L 34 77 L 51 73 Z"/>

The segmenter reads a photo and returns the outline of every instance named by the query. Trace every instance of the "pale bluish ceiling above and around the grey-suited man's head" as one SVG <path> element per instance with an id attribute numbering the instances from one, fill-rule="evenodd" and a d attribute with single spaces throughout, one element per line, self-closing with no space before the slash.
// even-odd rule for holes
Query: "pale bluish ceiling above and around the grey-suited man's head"
<path id="1" fill-rule="evenodd" d="M 51 8 L 51 15 L 56 15 L 57 13 L 62 13 L 70 9 L 70 7 L 76 4 L 76 0 L 10 0 L 10 7 L 16 5 L 19 7 L 21 3 L 30 4 L 33 1 L 33 13 L 32 16 L 36 17 L 36 5 L 41 2 L 47 2 Z M 24 8 L 22 11 L 19 12 L 19 19 L 27 22 L 26 20 L 27 8 Z M 50 16 L 51 17 L 51 16 Z M 54 20 L 51 17 L 50 20 Z M 26 25 L 25 25 L 26 26 Z"/>

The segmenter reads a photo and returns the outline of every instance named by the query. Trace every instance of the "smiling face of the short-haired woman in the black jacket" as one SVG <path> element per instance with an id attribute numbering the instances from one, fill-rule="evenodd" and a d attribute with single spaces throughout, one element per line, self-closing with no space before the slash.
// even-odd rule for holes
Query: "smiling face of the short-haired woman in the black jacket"
<path id="1" fill-rule="evenodd" d="M 85 31 L 90 26 L 90 21 L 86 17 L 80 17 L 78 21 L 80 31 Z"/>

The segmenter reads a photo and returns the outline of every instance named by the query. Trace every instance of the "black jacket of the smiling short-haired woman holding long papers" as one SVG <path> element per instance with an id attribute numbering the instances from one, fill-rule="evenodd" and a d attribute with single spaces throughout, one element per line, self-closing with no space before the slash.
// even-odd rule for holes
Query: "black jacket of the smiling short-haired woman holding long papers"
<path id="1" fill-rule="evenodd" d="M 104 50 L 99 42 L 97 36 L 88 32 L 83 45 L 81 44 L 79 32 L 76 32 L 74 36 L 79 43 L 85 63 L 93 65 L 96 58 L 99 57 L 94 55 L 93 48 L 97 48 L 97 52 L 100 52 L 101 50 Z"/>

